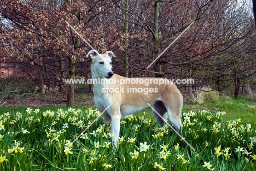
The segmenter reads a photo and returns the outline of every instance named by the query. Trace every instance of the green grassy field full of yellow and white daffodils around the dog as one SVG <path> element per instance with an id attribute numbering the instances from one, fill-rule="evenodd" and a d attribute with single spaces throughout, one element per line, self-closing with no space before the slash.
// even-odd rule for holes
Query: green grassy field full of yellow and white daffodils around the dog
<path id="1" fill-rule="evenodd" d="M 254 105 L 229 96 L 184 105 L 183 135 L 195 151 L 146 109 L 122 118 L 117 152 L 102 117 L 78 138 L 95 108 L 2 107 L 0 170 L 255 170 Z"/>

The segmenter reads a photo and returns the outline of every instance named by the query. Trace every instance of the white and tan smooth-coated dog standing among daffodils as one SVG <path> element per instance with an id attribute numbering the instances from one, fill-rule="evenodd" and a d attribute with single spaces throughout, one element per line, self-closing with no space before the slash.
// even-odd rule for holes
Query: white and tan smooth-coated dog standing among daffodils
<path id="1" fill-rule="evenodd" d="M 166 123 L 167 112 L 168 119 L 176 131 L 180 131 L 183 97 L 176 85 L 162 78 L 124 78 L 114 74 L 111 59 L 115 55 L 112 51 L 98 54 L 96 50 L 91 50 L 86 55 L 88 56 L 92 58 L 92 80 L 97 82 L 94 82 L 94 101 L 97 109 L 102 112 L 112 103 L 102 115 L 105 122 L 111 122 L 114 143 L 119 139 L 121 116 L 148 108 L 148 104 L 161 115 L 153 110 L 153 115 L 159 123 Z M 165 84 L 159 84 L 164 82 L 163 80 Z"/>

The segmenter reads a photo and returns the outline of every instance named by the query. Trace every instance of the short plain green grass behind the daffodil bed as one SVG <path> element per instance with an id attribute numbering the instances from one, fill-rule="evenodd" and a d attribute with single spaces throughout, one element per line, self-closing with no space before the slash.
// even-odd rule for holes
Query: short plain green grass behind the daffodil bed
<path id="1" fill-rule="evenodd" d="M 44 95 L 45 96 L 45 95 Z M 79 98 L 88 98 L 88 95 L 79 94 Z M 43 107 L 39 107 L 40 110 L 57 110 L 59 108 L 67 109 L 65 105 L 56 106 L 56 105 L 46 105 Z M 79 109 L 86 109 L 90 107 L 89 105 L 77 105 L 76 108 Z M 255 107 L 255 108 L 254 108 Z M 14 108 L 7 108 L 1 107 L 0 114 L 7 112 L 7 111 L 25 111 L 27 107 L 14 107 Z M 95 108 L 93 108 L 95 109 Z M 209 110 L 212 113 L 217 111 L 225 111 L 226 115 L 223 116 L 224 120 L 235 120 L 241 119 L 243 123 L 254 123 L 256 122 L 256 103 L 252 101 L 248 101 L 246 97 L 240 96 L 238 98 L 234 98 L 229 95 L 220 95 L 218 101 L 214 101 L 211 103 L 193 103 L 193 104 L 184 104 L 182 112 L 187 113 L 188 111 L 200 111 L 200 110 Z M 142 111 L 139 111 L 135 116 L 143 116 L 143 113 L 147 113 L 147 117 L 149 119 L 154 119 L 152 115 L 152 109 L 147 108 Z"/>

